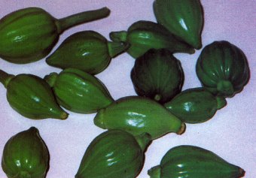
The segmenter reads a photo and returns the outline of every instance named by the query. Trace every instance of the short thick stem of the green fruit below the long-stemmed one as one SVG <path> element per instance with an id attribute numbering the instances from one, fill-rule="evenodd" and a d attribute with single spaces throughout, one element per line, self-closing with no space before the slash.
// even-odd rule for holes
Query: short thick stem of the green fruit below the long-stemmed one
<path id="1" fill-rule="evenodd" d="M 120 53 L 124 53 L 130 47 L 129 44 L 123 42 L 111 42 L 108 41 L 108 53 L 111 58 L 118 56 Z"/>

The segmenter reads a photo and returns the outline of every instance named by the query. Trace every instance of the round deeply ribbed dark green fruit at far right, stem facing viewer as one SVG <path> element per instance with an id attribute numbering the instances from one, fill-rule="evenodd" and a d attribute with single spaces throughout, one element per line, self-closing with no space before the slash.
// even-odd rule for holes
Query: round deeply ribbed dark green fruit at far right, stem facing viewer
<path id="1" fill-rule="evenodd" d="M 245 54 L 228 41 L 214 41 L 197 59 L 197 77 L 214 95 L 233 97 L 250 78 Z"/>

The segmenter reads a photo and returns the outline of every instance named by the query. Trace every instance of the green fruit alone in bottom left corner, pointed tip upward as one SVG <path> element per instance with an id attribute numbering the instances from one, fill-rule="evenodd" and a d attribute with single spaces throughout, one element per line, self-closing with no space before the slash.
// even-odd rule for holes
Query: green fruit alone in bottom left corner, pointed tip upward
<path id="1" fill-rule="evenodd" d="M 5 144 L 2 169 L 8 178 L 44 178 L 48 164 L 47 146 L 35 127 L 15 134 Z"/>

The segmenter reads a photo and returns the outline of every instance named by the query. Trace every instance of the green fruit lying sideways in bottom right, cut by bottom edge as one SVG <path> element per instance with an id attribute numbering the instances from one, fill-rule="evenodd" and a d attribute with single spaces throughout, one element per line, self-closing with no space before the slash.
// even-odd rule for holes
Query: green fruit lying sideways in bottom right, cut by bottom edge
<path id="1" fill-rule="evenodd" d="M 197 146 L 176 146 L 163 156 L 159 166 L 148 170 L 151 178 L 238 178 L 241 167 L 230 164 L 207 149 Z"/>

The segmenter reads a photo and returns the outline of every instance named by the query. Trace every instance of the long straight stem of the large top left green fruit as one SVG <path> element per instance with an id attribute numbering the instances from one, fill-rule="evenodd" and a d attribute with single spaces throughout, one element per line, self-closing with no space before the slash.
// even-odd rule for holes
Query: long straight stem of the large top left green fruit
<path id="1" fill-rule="evenodd" d="M 56 20 L 56 26 L 60 34 L 64 32 L 66 29 L 71 28 L 72 26 L 77 26 L 81 23 L 87 23 L 93 20 L 99 20 L 104 17 L 108 17 L 109 14 L 110 10 L 106 7 L 93 11 L 84 11 L 69 17 Z"/>

